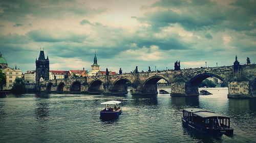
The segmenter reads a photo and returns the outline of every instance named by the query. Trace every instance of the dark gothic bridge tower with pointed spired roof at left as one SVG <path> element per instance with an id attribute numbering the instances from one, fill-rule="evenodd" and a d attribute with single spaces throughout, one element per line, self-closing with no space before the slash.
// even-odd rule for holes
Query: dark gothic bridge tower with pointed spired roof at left
<path id="1" fill-rule="evenodd" d="M 35 80 L 36 83 L 40 81 L 40 79 L 49 80 L 49 58 L 45 59 L 44 51 L 40 50 L 38 60 L 35 59 L 36 65 L 36 74 Z"/>

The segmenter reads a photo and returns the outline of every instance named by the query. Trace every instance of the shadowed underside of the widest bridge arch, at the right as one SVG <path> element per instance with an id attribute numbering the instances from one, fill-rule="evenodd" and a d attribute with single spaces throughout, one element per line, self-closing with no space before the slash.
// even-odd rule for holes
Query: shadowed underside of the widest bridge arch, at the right
<path id="1" fill-rule="evenodd" d="M 194 76 L 186 83 L 186 86 L 185 86 L 186 94 L 187 95 L 199 95 L 199 91 L 198 91 L 199 84 L 206 78 L 212 77 L 212 76 L 219 78 L 224 84 L 227 85 L 227 81 L 217 74 L 202 73 L 202 74 L 198 74 L 198 75 Z"/>

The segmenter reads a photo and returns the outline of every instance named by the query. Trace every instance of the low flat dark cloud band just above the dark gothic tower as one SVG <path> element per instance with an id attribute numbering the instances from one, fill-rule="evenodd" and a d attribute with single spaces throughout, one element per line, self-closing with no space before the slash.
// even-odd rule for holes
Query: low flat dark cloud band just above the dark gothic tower
<path id="1" fill-rule="evenodd" d="M 27 33 L 27 36 L 36 42 L 75 42 L 81 43 L 88 36 L 86 34 L 75 34 L 72 32 L 58 33 L 54 35 L 54 32 L 49 32 L 47 30 L 33 30 Z"/>

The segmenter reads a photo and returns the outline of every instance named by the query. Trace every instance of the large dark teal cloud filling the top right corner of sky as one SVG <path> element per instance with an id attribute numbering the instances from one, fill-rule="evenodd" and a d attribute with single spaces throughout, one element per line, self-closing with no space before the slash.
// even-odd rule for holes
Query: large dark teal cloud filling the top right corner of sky
<path id="1" fill-rule="evenodd" d="M 161 28 L 175 23 L 186 30 L 198 31 L 212 28 L 222 30 L 230 28 L 237 31 L 252 30 L 256 27 L 255 1 L 236 1 L 227 7 L 211 1 L 159 1 L 152 7 L 162 7 L 154 13 L 139 17 L 141 22 Z"/>

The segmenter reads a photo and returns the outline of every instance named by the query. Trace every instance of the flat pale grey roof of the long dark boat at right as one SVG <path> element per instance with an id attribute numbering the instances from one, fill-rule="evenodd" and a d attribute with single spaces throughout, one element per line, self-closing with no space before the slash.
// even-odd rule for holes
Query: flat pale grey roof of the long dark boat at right
<path id="1" fill-rule="evenodd" d="M 192 112 L 194 113 L 194 115 L 200 116 L 202 118 L 209 118 L 209 117 L 224 117 L 224 118 L 228 118 L 224 115 L 221 115 L 219 113 L 213 112 L 213 111 L 208 111 L 208 110 L 204 110 L 204 109 L 200 109 L 200 108 L 186 108 L 183 109 L 185 111 L 188 112 Z"/>

